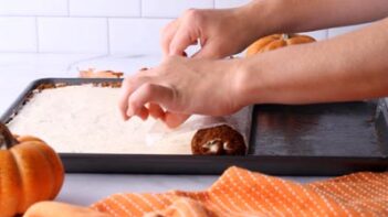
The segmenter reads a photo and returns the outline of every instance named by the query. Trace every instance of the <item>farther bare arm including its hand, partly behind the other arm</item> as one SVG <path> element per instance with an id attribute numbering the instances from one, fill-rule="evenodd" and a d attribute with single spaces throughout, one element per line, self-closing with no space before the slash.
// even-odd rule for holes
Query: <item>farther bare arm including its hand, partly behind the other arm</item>
<path id="1" fill-rule="evenodd" d="M 196 57 L 221 58 L 243 51 L 259 37 L 388 17 L 387 0 L 253 0 L 228 10 L 188 10 L 161 32 L 165 55 L 181 55 L 198 40 Z"/>

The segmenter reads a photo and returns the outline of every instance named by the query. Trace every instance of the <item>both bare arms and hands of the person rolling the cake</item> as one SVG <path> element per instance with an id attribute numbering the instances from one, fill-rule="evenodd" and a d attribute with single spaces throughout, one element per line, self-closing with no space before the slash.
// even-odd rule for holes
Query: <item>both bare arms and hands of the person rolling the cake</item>
<path id="1" fill-rule="evenodd" d="M 388 96 L 388 20 L 324 42 L 247 59 L 211 61 L 241 52 L 266 34 L 368 22 L 387 14 L 386 0 L 255 0 L 237 9 L 187 11 L 162 31 L 164 63 L 126 78 L 123 117 L 151 115 L 176 127 L 191 113 L 229 115 L 255 102 Z M 198 39 L 202 48 L 196 58 L 176 56 Z M 148 102 L 154 106 L 147 108 Z"/>

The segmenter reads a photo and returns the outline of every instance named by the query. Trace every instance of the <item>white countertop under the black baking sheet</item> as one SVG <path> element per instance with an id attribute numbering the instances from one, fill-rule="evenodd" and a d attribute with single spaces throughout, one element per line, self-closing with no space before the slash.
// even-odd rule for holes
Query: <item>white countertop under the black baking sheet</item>
<path id="1" fill-rule="evenodd" d="M 0 54 L 0 113 L 11 105 L 29 83 L 42 77 L 75 77 L 77 68 L 123 70 L 127 74 L 159 62 L 158 56 L 102 56 L 95 54 Z M 213 175 L 135 175 L 66 174 L 56 198 L 77 205 L 90 205 L 109 194 L 123 192 L 198 191 L 209 187 Z M 286 177 L 311 182 L 323 177 Z"/>

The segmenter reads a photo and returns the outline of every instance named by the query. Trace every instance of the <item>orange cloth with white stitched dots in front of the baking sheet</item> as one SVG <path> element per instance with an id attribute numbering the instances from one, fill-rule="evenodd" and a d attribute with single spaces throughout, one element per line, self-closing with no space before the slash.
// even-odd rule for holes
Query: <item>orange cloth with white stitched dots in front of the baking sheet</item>
<path id="1" fill-rule="evenodd" d="M 92 208 L 112 216 L 388 216 L 388 172 L 311 184 L 230 167 L 207 191 L 116 194 Z"/>

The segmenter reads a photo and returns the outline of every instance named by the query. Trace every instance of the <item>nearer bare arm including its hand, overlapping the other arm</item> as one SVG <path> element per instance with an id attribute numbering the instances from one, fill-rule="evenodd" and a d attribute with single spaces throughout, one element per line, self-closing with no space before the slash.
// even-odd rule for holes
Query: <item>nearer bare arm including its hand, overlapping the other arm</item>
<path id="1" fill-rule="evenodd" d="M 123 117 L 167 111 L 222 116 L 252 104 L 311 104 L 388 96 L 388 19 L 332 40 L 240 59 L 179 56 L 125 80 Z M 170 127 L 185 118 L 166 116 Z"/>

